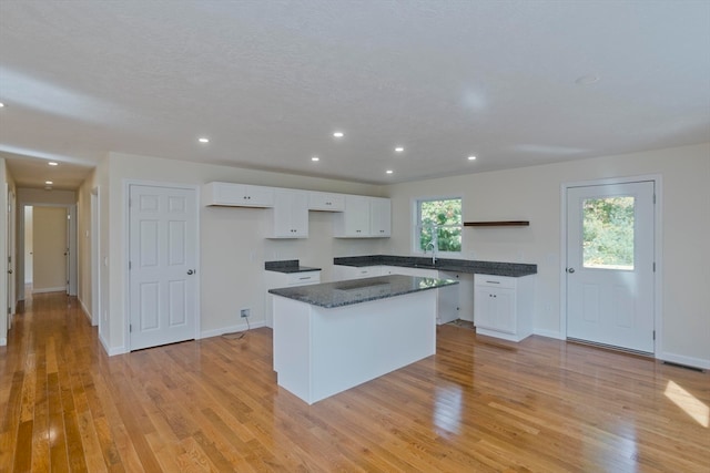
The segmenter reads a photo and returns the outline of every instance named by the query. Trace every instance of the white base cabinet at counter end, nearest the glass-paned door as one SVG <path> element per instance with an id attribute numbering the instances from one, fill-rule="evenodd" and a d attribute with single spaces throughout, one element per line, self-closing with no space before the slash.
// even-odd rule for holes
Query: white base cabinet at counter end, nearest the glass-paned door
<path id="1" fill-rule="evenodd" d="M 476 331 L 520 341 L 532 333 L 534 282 L 531 276 L 474 276 Z"/>

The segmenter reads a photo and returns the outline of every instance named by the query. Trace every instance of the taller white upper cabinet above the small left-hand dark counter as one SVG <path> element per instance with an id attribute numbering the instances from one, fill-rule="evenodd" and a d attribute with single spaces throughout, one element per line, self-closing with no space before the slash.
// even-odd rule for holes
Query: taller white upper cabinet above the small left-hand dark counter
<path id="1" fill-rule="evenodd" d="M 268 238 L 308 237 L 308 195 L 302 191 L 274 189 Z"/>

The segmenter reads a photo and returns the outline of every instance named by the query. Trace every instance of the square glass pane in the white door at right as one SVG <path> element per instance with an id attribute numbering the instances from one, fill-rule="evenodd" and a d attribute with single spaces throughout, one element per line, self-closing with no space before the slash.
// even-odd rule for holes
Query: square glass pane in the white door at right
<path id="1" fill-rule="evenodd" d="M 631 196 L 584 199 L 585 268 L 633 270 L 633 204 Z"/>

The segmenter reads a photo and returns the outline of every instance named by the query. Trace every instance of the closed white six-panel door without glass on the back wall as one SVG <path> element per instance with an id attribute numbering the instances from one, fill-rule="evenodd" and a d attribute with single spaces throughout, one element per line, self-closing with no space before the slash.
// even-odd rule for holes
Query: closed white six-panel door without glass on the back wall
<path id="1" fill-rule="evenodd" d="M 130 349 L 195 338 L 194 189 L 130 186 Z"/>

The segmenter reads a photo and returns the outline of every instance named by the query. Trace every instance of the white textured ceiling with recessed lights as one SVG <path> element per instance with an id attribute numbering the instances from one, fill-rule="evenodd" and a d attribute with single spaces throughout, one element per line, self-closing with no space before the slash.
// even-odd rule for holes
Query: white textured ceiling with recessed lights
<path id="1" fill-rule="evenodd" d="M 383 184 L 694 144 L 710 1 L 0 0 L 0 101 L 26 186 L 20 155 Z"/>

